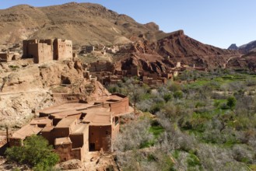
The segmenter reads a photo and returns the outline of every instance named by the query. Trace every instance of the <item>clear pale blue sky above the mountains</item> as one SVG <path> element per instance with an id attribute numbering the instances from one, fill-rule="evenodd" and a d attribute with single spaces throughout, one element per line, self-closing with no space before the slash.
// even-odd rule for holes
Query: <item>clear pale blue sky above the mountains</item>
<path id="1" fill-rule="evenodd" d="M 0 9 L 28 4 L 47 6 L 66 0 L 0 0 Z M 184 30 L 204 44 L 227 48 L 256 40 L 256 0 L 91 0 L 139 23 L 155 22 L 164 32 Z"/>

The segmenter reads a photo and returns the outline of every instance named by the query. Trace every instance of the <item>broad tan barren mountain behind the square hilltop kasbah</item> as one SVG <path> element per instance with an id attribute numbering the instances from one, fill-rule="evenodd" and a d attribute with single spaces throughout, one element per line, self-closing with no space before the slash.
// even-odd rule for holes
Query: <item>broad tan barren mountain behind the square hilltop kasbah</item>
<path id="1" fill-rule="evenodd" d="M 0 10 L 0 44 L 30 38 L 62 38 L 74 44 L 125 44 L 167 36 L 155 23 L 140 24 L 102 5 L 67 3 L 36 8 L 17 5 Z"/>

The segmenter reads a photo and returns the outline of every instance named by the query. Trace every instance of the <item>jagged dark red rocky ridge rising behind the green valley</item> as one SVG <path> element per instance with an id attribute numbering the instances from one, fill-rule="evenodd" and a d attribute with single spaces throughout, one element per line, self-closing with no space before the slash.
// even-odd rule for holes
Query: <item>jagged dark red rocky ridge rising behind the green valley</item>
<path id="1" fill-rule="evenodd" d="M 114 56 L 117 69 L 138 66 L 142 71 L 165 72 L 174 68 L 177 61 L 181 65 L 201 68 L 220 68 L 230 58 L 239 57 L 238 51 L 230 51 L 202 44 L 184 34 L 183 30 L 170 33 L 156 42 L 139 41 L 125 51 Z"/>

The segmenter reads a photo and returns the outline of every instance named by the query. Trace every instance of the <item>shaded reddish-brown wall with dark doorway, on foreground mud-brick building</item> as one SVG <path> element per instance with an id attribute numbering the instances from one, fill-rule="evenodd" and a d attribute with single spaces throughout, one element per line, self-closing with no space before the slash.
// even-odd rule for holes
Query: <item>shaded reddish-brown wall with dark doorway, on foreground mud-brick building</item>
<path id="1" fill-rule="evenodd" d="M 109 126 L 89 126 L 89 150 L 104 152 L 111 150 L 111 125 Z M 94 146 L 94 149 L 93 149 Z"/>

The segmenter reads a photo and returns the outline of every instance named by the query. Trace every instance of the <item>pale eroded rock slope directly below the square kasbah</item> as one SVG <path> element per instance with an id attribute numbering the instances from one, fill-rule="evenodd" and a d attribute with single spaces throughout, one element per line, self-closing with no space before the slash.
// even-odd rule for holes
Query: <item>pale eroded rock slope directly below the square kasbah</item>
<path id="1" fill-rule="evenodd" d="M 53 96 L 54 93 L 70 94 L 69 99 L 84 100 L 108 94 L 100 82 L 84 78 L 82 68 L 79 71 L 75 65 L 69 68 L 69 62 L 23 65 L 24 61 L 0 65 L 0 71 L 5 71 L 0 75 L 0 127 L 21 126 L 37 110 L 68 100 Z"/>

